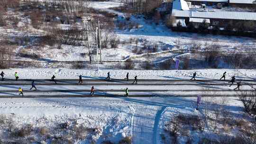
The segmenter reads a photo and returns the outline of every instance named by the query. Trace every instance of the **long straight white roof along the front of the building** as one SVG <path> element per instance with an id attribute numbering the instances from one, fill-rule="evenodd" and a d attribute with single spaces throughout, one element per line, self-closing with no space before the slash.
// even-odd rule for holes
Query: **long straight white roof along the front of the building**
<path id="1" fill-rule="evenodd" d="M 189 17 L 189 18 L 256 20 L 256 12 L 237 12 L 237 11 L 209 12 L 209 11 L 173 9 L 172 15 L 174 17 Z"/>

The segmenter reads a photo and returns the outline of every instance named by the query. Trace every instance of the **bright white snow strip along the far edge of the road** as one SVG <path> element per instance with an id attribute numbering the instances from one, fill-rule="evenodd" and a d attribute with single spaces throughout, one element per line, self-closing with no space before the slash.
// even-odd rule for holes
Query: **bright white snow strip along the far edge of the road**
<path id="1" fill-rule="evenodd" d="M 67 68 L 57 69 L 0 69 L 6 74 L 7 79 L 15 79 L 14 73 L 18 72 L 20 79 L 50 79 L 53 75 L 58 79 L 78 79 L 78 76 L 82 74 L 85 79 L 103 79 L 107 77 L 107 73 L 110 72 L 110 76 L 113 79 L 124 79 L 127 72 L 129 77 L 133 79 L 136 75 L 138 79 L 156 79 L 156 80 L 177 80 L 177 79 L 191 79 L 194 72 L 197 72 L 198 79 L 219 79 L 224 72 L 227 72 L 227 79 L 231 76 L 236 76 L 239 79 L 256 79 L 256 70 L 245 69 L 198 69 L 198 70 L 165 70 L 165 71 L 153 71 L 153 70 L 74 70 Z M 250 77 L 250 78 L 249 78 Z"/>

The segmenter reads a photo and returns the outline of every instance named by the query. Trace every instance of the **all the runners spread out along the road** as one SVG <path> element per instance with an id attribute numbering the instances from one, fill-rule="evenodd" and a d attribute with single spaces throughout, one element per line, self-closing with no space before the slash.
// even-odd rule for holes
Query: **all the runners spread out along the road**
<path id="1" fill-rule="evenodd" d="M 227 74 L 227 72 L 224 72 L 223 75 L 222 75 L 222 77 L 221 77 L 219 80 L 222 80 L 222 79 L 224 78 L 224 81 L 225 81 L 225 80 L 226 80 L 226 74 Z M 4 72 L 1 72 L 1 73 L 0 73 L 0 76 L 2 77 L 2 78 L 1 78 L 1 81 L 4 81 L 4 80 L 5 80 L 4 75 L 5 75 Z M 18 77 L 18 72 L 15 72 L 15 73 L 14 73 L 14 76 L 15 76 L 15 80 L 18 81 L 18 79 L 19 79 L 19 77 Z M 51 78 L 51 81 L 54 81 L 55 84 L 57 84 L 57 81 L 55 80 L 55 78 L 56 78 L 55 75 L 53 75 L 52 78 Z M 127 81 L 129 81 L 129 72 L 127 73 L 126 78 L 124 78 L 124 79 L 127 80 Z M 105 80 L 108 80 L 108 81 L 111 80 L 111 78 L 110 78 L 110 72 L 107 73 L 107 78 L 106 78 Z M 191 78 L 190 80 L 196 80 L 196 72 L 193 73 L 193 76 L 192 76 L 192 78 Z M 231 86 L 233 85 L 233 83 L 235 82 L 235 80 L 236 80 L 235 76 L 232 76 L 232 77 L 231 77 L 231 81 L 229 81 L 229 83 L 231 83 L 231 84 L 229 85 L 229 87 L 231 87 Z M 82 74 L 81 74 L 81 75 L 79 75 L 79 82 L 78 82 L 78 84 L 82 84 L 82 82 L 83 82 L 83 81 L 82 81 Z M 134 83 L 137 84 L 137 75 L 134 77 L 134 81 L 133 81 L 132 84 L 134 84 Z M 33 88 L 35 88 L 35 90 L 37 90 L 34 80 L 32 80 L 31 85 L 32 85 L 32 87 L 31 87 L 29 90 L 32 90 Z M 236 87 L 234 90 L 237 90 L 237 89 L 239 90 L 240 86 L 241 86 L 241 81 L 237 82 L 237 87 Z M 23 94 L 23 89 L 22 89 L 21 87 L 18 88 L 18 92 L 19 92 L 18 95 L 24 96 L 24 94 Z M 93 95 L 94 95 L 94 92 L 95 92 L 95 88 L 94 88 L 94 86 L 92 86 L 92 87 L 91 87 L 91 93 L 90 93 L 90 95 L 93 96 Z M 128 93 L 128 88 L 126 88 L 126 89 L 125 89 L 125 95 L 128 96 L 128 94 L 129 94 L 129 93 Z"/>

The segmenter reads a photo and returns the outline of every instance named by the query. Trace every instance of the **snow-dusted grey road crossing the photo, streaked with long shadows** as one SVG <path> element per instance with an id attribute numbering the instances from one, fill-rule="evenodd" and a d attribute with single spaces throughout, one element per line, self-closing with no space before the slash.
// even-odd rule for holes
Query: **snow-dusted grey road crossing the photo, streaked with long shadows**
<path id="1" fill-rule="evenodd" d="M 235 96 L 236 82 L 229 87 L 228 80 L 138 80 L 137 84 L 132 84 L 133 80 L 112 79 L 92 80 L 84 79 L 83 84 L 77 84 L 78 80 L 35 80 L 37 90 L 31 88 L 31 80 L 5 80 L 0 81 L 0 98 L 19 97 L 18 88 L 24 90 L 24 97 L 91 97 L 91 86 L 95 87 L 94 97 L 119 97 L 124 96 L 125 89 L 128 88 L 130 97 L 150 97 L 150 96 Z M 237 79 L 242 81 L 241 91 L 250 91 L 249 85 L 256 85 L 255 81 Z"/>

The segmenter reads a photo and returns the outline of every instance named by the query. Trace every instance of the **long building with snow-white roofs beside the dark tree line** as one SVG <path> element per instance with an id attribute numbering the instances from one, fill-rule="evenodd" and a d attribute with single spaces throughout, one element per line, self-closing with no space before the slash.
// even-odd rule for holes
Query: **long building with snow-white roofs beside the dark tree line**
<path id="1" fill-rule="evenodd" d="M 187 9 L 185 3 L 183 2 L 183 9 L 179 7 L 179 3 L 181 0 L 174 0 L 173 7 L 175 9 L 172 10 L 172 16 L 176 19 L 185 19 L 186 25 L 190 22 L 193 24 L 201 23 L 204 19 L 207 20 L 207 23 L 210 23 L 211 26 L 218 25 L 219 27 L 226 27 L 228 24 L 233 23 L 236 25 L 239 22 L 251 22 L 256 26 L 256 12 L 241 12 L 241 11 L 225 11 L 223 9 L 204 9 L 204 8 L 192 8 Z M 183 0 L 184 1 L 184 0 Z M 200 0 L 187 0 L 187 1 L 200 1 Z M 225 0 L 203 0 L 209 2 L 225 2 Z M 227 2 L 238 2 L 238 1 L 252 1 L 252 0 L 227 0 Z M 175 6 L 175 5 L 178 6 Z M 255 7 L 256 8 L 256 7 Z M 233 25 L 232 24 L 232 25 Z"/>

